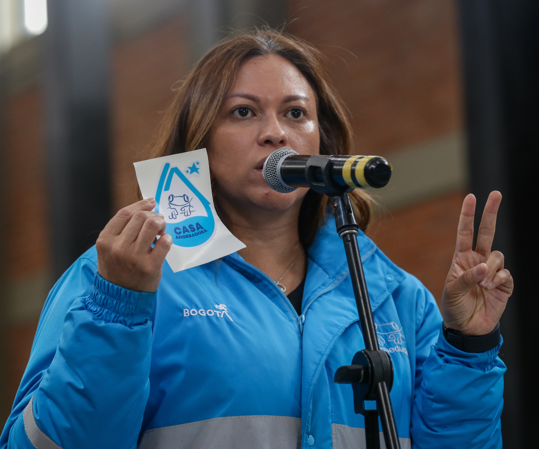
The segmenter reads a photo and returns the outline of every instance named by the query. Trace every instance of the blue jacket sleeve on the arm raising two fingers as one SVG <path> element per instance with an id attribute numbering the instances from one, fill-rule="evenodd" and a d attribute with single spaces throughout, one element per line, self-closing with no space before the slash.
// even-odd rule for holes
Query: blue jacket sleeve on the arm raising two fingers
<path id="1" fill-rule="evenodd" d="M 412 447 L 501 448 L 506 370 L 497 355 L 501 344 L 480 354 L 454 348 L 441 331 L 438 306 L 426 289 L 424 301 L 416 335 Z"/>

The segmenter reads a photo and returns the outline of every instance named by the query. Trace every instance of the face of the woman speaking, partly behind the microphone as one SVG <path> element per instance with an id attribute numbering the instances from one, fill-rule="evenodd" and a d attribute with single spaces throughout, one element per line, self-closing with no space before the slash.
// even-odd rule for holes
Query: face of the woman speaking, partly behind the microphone
<path id="1" fill-rule="evenodd" d="M 219 199 L 242 209 L 299 207 L 307 188 L 281 194 L 262 176 L 266 157 L 279 148 L 320 153 L 315 94 L 286 59 L 253 57 L 241 65 L 210 131 L 208 157 Z"/>

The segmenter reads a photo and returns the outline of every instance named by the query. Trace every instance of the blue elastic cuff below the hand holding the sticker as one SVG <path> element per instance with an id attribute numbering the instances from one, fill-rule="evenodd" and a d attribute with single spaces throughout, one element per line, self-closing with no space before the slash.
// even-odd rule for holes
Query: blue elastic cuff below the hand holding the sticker
<path id="1" fill-rule="evenodd" d="M 134 292 L 95 273 L 88 308 L 104 321 L 133 326 L 146 321 L 154 309 L 157 293 Z"/>

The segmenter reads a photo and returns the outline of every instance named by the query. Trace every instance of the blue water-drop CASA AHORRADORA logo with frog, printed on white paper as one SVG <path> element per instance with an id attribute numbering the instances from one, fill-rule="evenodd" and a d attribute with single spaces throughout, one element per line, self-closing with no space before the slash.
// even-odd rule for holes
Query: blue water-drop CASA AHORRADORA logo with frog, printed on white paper
<path id="1" fill-rule="evenodd" d="M 199 164 L 192 162 L 185 173 L 199 176 Z M 162 201 L 162 198 L 166 200 Z M 165 216 L 165 232 L 172 236 L 175 245 L 192 248 L 204 245 L 213 236 L 215 218 L 210 202 L 181 169 L 170 167 L 169 162 L 164 164 L 161 172 L 155 201 L 155 211 Z"/>

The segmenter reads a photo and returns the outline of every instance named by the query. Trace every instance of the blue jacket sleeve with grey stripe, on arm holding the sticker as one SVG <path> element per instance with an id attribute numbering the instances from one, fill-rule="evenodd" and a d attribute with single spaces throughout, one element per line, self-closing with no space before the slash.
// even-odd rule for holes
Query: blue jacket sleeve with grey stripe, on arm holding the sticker
<path id="1" fill-rule="evenodd" d="M 79 259 L 47 298 L 0 447 L 135 447 L 155 296 L 111 284 Z"/>

